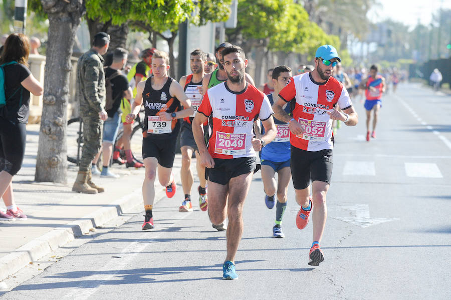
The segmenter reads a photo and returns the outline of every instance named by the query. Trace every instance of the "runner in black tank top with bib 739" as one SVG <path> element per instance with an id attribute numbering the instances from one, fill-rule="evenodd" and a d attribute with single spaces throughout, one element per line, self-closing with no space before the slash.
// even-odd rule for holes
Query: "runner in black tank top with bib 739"
<path id="1" fill-rule="evenodd" d="M 180 129 L 178 119 L 188 117 L 194 112 L 183 88 L 167 75 L 169 57 L 165 52 L 154 53 L 151 68 L 153 76 L 138 84 L 131 113 L 126 117 L 127 122 L 134 120 L 145 101 L 142 157 L 146 174 L 142 183 L 142 196 L 146 215 L 142 230 L 153 228 L 152 207 L 155 198 L 153 184 L 157 169 L 158 180 L 162 186 L 166 186 L 167 197 L 172 198 L 175 194 L 172 165 Z M 184 107 L 181 111 L 180 104 Z"/>

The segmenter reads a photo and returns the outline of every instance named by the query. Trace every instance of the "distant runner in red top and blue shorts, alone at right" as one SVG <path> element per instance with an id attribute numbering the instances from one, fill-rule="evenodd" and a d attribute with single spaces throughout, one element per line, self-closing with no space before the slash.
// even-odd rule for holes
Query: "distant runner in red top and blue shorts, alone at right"
<path id="1" fill-rule="evenodd" d="M 365 110 L 366 110 L 366 141 L 370 140 L 371 111 L 373 112 L 373 131 L 371 137 L 376 138 L 376 124 L 379 115 L 379 109 L 382 107 L 382 93 L 385 92 L 385 79 L 381 75 L 377 75 L 377 67 L 372 65 L 369 71 L 369 76 L 362 80 L 359 86 L 360 89 L 365 90 Z"/>

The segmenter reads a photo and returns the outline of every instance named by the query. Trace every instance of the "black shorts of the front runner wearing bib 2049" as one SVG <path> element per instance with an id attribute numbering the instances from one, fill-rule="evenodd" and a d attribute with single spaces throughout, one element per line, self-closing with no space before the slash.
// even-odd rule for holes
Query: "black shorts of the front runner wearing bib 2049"
<path id="1" fill-rule="evenodd" d="M 255 169 L 255 157 L 214 158 L 213 160 L 214 168 L 205 168 L 205 179 L 222 185 L 228 184 L 231 178 L 252 173 Z"/>

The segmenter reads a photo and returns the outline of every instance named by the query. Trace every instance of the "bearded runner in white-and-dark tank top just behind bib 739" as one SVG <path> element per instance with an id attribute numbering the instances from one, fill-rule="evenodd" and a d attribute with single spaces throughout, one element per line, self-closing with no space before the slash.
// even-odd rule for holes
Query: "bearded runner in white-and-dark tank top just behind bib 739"
<path id="1" fill-rule="evenodd" d="M 191 204 L 191 187 L 194 182 L 191 172 L 191 157 L 194 151 L 196 155 L 197 175 L 199 176 L 199 207 L 202 211 L 208 208 L 206 195 L 205 167 L 200 164 L 199 152 L 197 151 L 196 142 L 192 135 L 191 122 L 194 118 L 197 108 L 202 102 L 202 79 L 204 76 L 203 65 L 205 61 L 205 53 L 200 49 L 195 49 L 189 54 L 189 64 L 192 74 L 180 78 L 180 85 L 183 87 L 186 96 L 191 100 L 191 107 L 194 113 L 183 119 L 180 132 L 180 150 L 182 154 L 182 165 L 180 168 L 180 179 L 182 183 L 185 198 L 182 205 L 178 208 L 180 212 L 192 211 Z"/>

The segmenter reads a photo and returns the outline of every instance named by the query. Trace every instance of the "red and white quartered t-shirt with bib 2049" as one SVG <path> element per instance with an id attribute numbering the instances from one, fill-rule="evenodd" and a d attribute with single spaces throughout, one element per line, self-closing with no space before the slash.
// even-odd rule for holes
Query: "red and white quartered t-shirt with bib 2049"
<path id="1" fill-rule="evenodd" d="M 246 84 L 242 92 L 233 92 L 226 82 L 208 89 L 197 112 L 212 118 L 208 152 L 224 159 L 255 156 L 253 123 L 274 114 L 268 97 L 256 87 Z"/>

